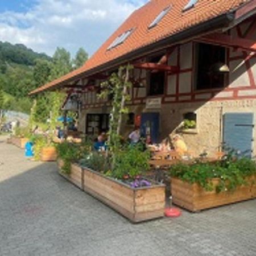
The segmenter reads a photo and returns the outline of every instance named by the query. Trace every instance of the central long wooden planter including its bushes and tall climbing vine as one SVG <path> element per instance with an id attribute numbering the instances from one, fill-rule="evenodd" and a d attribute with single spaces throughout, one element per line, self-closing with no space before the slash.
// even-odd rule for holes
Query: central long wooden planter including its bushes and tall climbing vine
<path id="1" fill-rule="evenodd" d="M 113 73 L 102 85 L 101 96 L 113 94 L 113 108 L 106 152 L 89 152 L 80 161 L 85 192 L 109 205 L 133 222 L 163 217 L 165 185 L 143 179 L 149 154 L 138 147 L 123 147 L 120 131 L 130 66 Z M 64 166 L 64 162 L 61 163 Z"/>

